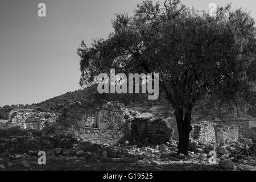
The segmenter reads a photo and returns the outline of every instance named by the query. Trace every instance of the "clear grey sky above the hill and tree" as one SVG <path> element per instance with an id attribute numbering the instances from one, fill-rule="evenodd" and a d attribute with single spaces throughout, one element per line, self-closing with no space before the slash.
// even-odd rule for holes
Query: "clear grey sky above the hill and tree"
<path id="1" fill-rule="evenodd" d="M 141 0 L 1 0 L 0 106 L 32 104 L 80 89 L 81 40 L 112 32 L 117 13 L 133 11 Z M 154 2 L 157 2 L 154 0 Z M 161 1 L 160 1 L 161 2 Z M 46 4 L 46 17 L 38 4 Z M 255 0 L 181 0 L 208 11 L 210 3 L 242 7 L 256 19 Z"/>

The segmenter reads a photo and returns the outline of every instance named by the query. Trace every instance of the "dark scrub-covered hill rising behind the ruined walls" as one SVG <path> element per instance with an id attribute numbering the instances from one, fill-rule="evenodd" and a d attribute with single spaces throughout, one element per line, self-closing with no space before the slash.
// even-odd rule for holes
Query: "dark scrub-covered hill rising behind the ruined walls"
<path id="1" fill-rule="evenodd" d="M 160 91 L 158 100 L 148 100 L 147 94 L 98 94 L 97 85 L 92 85 L 86 89 L 67 92 L 60 96 L 49 98 L 46 101 L 32 105 L 12 105 L 4 106 L 5 109 L 11 110 L 32 110 L 44 111 L 49 113 L 60 113 L 64 107 L 73 102 L 83 101 L 88 106 L 101 107 L 105 101 L 118 100 L 122 102 L 127 110 L 135 110 L 139 113 L 152 113 L 155 117 L 175 118 L 174 110 L 170 106 L 165 94 Z M 0 108 L 1 110 L 1 108 Z M 236 109 L 230 109 L 226 105 L 219 107 L 213 100 L 205 100 L 202 104 L 197 105 L 193 111 L 193 121 L 210 120 L 236 120 L 236 119 L 253 119 L 255 117 L 255 108 L 246 106 Z"/>

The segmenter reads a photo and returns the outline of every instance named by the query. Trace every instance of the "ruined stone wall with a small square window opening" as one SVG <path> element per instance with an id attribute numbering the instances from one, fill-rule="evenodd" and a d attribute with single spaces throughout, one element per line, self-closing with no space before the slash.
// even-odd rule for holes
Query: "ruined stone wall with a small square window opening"
<path id="1" fill-rule="evenodd" d="M 123 117 L 118 102 L 108 102 L 101 108 L 76 102 L 65 108 L 57 122 L 89 142 L 114 144 L 123 142 L 129 135 L 129 124 Z"/>

